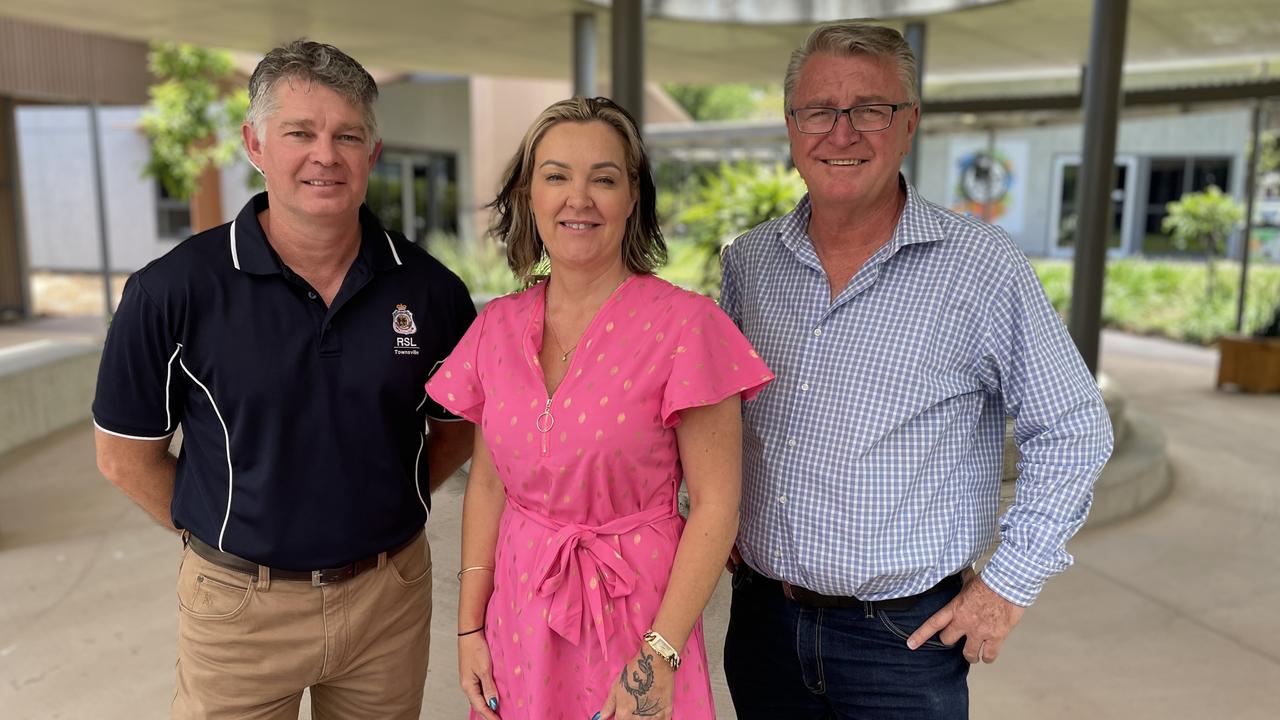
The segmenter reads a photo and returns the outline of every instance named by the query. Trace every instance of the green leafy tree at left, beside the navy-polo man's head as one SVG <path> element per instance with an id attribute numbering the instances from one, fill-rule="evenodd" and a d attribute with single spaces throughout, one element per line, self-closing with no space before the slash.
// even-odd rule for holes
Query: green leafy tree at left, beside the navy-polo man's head
<path id="1" fill-rule="evenodd" d="M 147 65 L 157 82 L 142 115 L 151 141 L 142 174 L 159 179 L 170 196 L 189 200 L 210 164 L 225 167 L 236 158 L 248 92 L 232 88 L 236 68 L 225 53 L 156 42 Z"/>

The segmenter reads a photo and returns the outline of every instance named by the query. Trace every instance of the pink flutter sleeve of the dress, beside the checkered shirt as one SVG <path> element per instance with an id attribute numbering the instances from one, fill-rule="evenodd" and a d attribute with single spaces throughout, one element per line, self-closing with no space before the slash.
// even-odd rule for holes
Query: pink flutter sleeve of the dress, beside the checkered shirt
<path id="1" fill-rule="evenodd" d="M 664 428 L 678 425 L 686 407 L 716 405 L 732 395 L 741 395 L 745 402 L 773 380 L 760 355 L 712 300 L 691 295 L 687 318 L 672 350 L 671 377 L 663 391 Z"/>

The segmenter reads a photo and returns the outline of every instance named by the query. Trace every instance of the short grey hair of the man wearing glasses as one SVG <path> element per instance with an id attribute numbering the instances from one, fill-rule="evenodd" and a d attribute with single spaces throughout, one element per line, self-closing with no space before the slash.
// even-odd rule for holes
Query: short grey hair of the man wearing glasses
<path id="1" fill-rule="evenodd" d="M 818 53 L 828 53 L 838 58 L 870 55 L 873 58 L 897 61 L 897 76 L 906 90 L 906 100 L 920 104 L 920 86 L 915 78 L 915 53 L 908 45 L 902 33 L 890 27 L 865 23 L 835 23 L 820 26 L 809 33 L 804 45 L 791 53 L 787 76 L 782 81 L 783 109 L 791 110 L 791 95 L 800 82 L 800 70 L 805 61 Z"/>

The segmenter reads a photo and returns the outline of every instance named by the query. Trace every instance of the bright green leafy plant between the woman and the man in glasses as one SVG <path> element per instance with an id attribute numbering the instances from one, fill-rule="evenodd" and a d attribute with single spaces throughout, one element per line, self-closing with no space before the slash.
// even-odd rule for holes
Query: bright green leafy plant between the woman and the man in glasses
<path id="1" fill-rule="evenodd" d="M 753 227 L 791 211 L 805 186 L 800 174 L 781 164 L 722 164 L 708 177 L 695 200 L 678 215 L 703 256 L 701 290 L 719 295 L 721 249 Z"/>

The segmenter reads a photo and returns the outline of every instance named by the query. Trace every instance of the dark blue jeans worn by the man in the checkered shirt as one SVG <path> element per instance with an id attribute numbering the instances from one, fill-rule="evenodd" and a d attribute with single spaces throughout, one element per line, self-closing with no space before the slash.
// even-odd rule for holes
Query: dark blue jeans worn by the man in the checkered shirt
<path id="1" fill-rule="evenodd" d="M 724 674 L 739 720 L 952 720 L 969 716 L 969 662 L 934 635 L 906 638 L 955 597 L 910 610 L 815 609 L 745 564 L 733 574 Z"/>

